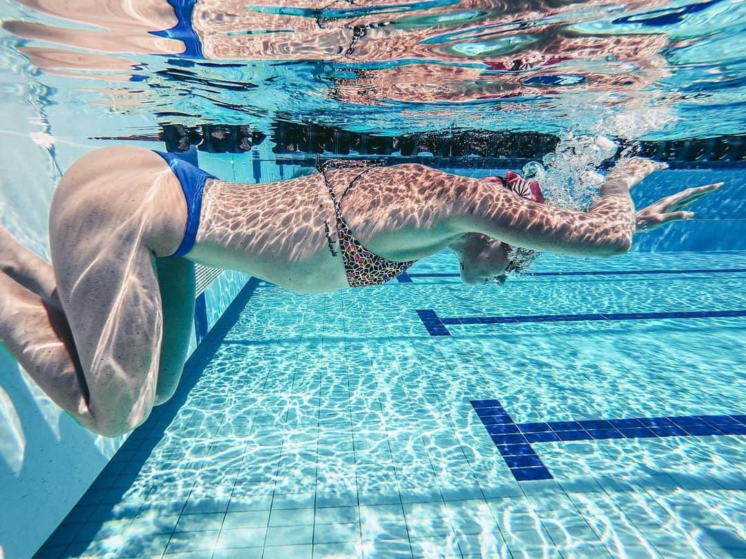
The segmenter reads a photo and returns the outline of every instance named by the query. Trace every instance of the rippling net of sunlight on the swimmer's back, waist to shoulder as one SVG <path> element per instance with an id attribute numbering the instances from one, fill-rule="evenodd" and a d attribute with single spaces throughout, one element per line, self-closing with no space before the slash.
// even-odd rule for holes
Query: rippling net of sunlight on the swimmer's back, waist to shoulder
<path id="1" fill-rule="evenodd" d="M 420 175 L 424 170 L 436 174 L 434 183 L 432 174 Z M 337 198 L 359 172 L 327 171 Z M 448 209 L 436 201 L 450 198 L 453 191 L 448 177 L 454 175 L 422 165 L 374 168 L 345 196 L 345 222 L 366 247 L 368 241 L 388 231 L 432 227 L 448 215 Z M 314 259 L 319 253 L 329 255 L 325 224 L 333 224 L 336 214 L 322 174 L 256 186 L 209 180 L 203 200 L 198 245 L 231 247 L 251 256 L 282 259 L 289 265 Z"/>

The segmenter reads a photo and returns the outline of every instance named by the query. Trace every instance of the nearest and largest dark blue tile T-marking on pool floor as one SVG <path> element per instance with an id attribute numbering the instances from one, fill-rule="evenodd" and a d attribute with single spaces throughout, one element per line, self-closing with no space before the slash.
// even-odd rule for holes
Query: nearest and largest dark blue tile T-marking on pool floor
<path id="1" fill-rule="evenodd" d="M 475 399 L 471 400 L 471 405 L 517 481 L 554 479 L 531 443 L 746 435 L 746 415 L 682 415 L 515 423 L 496 399 Z"/>

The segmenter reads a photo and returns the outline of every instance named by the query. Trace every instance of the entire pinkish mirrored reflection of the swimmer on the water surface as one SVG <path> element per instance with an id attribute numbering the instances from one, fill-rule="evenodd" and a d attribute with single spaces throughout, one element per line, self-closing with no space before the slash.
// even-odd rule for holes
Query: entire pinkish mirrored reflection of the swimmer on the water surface
<path id="1" fill-rule="evenodd" d="M 39 12 L 96 26 L 69 30 L 3 22 L 4 29 L 19 37 L 75 48 L 24 47 L 35 65 L 57 73 L 104 70 L 103 77 L 110 80 L 126 79 L 110 70 L 132 70 L 138 64 L 104 52 L 404 64 L 401 69 L 366 68 L 360 80 L 342 81 L 339 98 L 356 102 L 372 102 L 363 86 L 377 91 L 379 98 L 397 101 L 466 101 L 536 95 L 554 91 L 551 86 L 557 84 L 564 89 L 639 90 L 665 76 L 665 59 L 658 54 L 667 42 L 665 34 L 626 29 L 621 35 L 581 34 L 573 28 L 573 23 L 601 16 L 598 0 L 582 5 L 462 0 L 417 7 L 388 0 L 136 0 L 122 7 L 106 0 L 96 10 L 90 1 L 21 1 Z M 624 7 L 634 13 L 660 1 L 630 0 Z M 81 55 L 80 49 L 96 54 Z"/>

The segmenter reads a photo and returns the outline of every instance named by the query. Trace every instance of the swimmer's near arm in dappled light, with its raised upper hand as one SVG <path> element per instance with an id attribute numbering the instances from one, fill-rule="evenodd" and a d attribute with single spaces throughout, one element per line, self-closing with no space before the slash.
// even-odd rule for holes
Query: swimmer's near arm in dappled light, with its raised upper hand
<path id="1" fill-rule="evenodd" d="M 625 253 L 636 223 L 630 188 L 660 168 L 665 165 L 624 160 L 609 171 L 601 198 L 588 212 L 530 202 L 507 189 L 474 181 L 454 226 L 544 252 L 601 257 Z"/>

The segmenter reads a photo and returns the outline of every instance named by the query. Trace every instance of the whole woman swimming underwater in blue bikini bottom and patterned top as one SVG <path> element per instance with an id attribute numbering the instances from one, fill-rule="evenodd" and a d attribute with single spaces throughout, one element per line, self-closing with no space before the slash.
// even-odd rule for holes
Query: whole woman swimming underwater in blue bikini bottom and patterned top
<path id="1" fill-rule="evenodd" d="M 690 218 L 682 208 L 721 186 L 636 213 L 629 190 L 657 168 L 619 163 L 595 206 L 580 212 L 539 203 L 538 185 L 513 175 L 327 167 L 249 186 L 167 154 L 105 148 L 75 162 L 54 193 L 51 265 L 0 228 L 0 341 L 79 423 L 120 435 L 178 384 L 194 310 L 192 262 L 318 292 L 386 282 L 448 247 L 464 282 L 501 283 L 521 264 L 505 243 L 624 253 L 636 227 Z"/>

